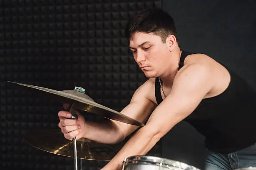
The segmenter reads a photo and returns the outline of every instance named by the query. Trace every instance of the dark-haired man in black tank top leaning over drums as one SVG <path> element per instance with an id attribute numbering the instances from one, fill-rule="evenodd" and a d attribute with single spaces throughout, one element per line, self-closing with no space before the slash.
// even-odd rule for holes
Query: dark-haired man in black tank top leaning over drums
<path id="1" fill-rule="evenodd" d="M 256 165 L 253 89 L 209 56 L 182 51 L 174 21 L 162 10 L 139 13 L 128 22 L 125 34 L 134 59 L 149 79 L 121 113 L 140 122 L 149 119 L 102 170 L 120 170 L 124 158 L 145 155 L 182 120 L 205 135 L 205 169 Z M 114 120 L 97 123 L 80 115 L 78 120 L 67 117 L 69 112 L 59 112 L 59 127 L 70 140 L 77 136 L 114 144 L 138 128 Z"/>

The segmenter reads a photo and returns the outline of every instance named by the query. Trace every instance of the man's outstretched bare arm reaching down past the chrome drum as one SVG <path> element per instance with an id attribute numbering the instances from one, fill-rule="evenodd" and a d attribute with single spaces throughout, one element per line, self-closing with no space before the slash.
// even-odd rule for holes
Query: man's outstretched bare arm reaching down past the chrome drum
<path id="1" fill-rule="evenodd" d="M 176 75 L 172 92 L 156 107 L 146 126 L 138 130 L 102 170 L 116 170 L 132 155 L 145 155 L 174 125 L 187 117 L 212 88 L 210 69 L 184 66 Z"/>

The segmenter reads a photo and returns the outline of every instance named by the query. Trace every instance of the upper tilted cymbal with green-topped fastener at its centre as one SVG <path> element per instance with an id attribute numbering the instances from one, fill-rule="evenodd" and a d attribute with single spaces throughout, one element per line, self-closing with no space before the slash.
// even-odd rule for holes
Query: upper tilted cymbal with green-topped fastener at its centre
<path id="1" fill-rule="evenodd" d="M 11 81 L 7 81 L 7 82 L 11 82 Z M 112 119 L 112 120 L 117 120 L 119 122 L 124 122 L 131 125 L 136 125 L 136 126 L 144 126 L 143 123 L 137 120 L 134 120 L 131 117 L 128 117 L 126 115 L 121 114 L 120 112 L 117 112 L 108 107 L 98 104 L 97 102 L 93 101 L 90 96 L 82 92 L 78 92 L 75 90 L 57 91 L 49 88 L 38 87 L 34 85 L 27 85 L 27 84 L 22 84 L 18 82 L 11 82 L 11 83 L 14 83 L 15 85 L 20 85 L 20 87 L 25 87 L 26 90 L 29 88 L 29 90 L 30 91 L 33 90 L 33 92 L 36 93 L 36 95 L 51 97 L 51 99 L 57 100 L 62 103 L 74 102 L 73 107 L 80 110 L 95 113 L 102 117 Z"/>

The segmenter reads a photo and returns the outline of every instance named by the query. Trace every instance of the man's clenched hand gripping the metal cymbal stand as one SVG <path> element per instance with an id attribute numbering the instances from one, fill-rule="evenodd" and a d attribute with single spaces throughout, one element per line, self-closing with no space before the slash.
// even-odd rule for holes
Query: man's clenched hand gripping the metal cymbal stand
<path id="1" fill-rule="evenodd" d="M 68 104 L 64 104 L 63 107 L 67 109 L 69 107 Z M 74 137 L 77 137 L 77 140 L 80 138 L 84 138 L 85 135 L 85 120 L 82 115 L 79 114 L 76 110 L 73 110 L 78 116 L 78 119 L 67 119 L 72 115 L 67 111 L 59 111 L 59 128 L 61 128 L 61 132 L 64 134 L 64 137 L 68 140 L 72 140 Z"/>

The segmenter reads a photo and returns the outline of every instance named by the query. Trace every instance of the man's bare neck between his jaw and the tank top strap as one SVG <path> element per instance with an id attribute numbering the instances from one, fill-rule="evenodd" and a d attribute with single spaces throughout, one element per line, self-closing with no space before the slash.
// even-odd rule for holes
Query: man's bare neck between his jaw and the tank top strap
<path id="1" fill-rule="evenodd" d="M 167 65 L 166 71 L 159 76 L 166 86 L 172 85 L 174 77 L 178 71 L 179 60 L 181 57 L 181 50 L 178 47 L 176 50 L 171 52 L 170 64 Z"/>

